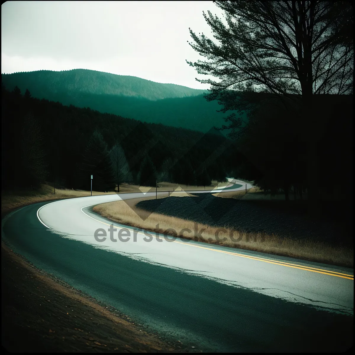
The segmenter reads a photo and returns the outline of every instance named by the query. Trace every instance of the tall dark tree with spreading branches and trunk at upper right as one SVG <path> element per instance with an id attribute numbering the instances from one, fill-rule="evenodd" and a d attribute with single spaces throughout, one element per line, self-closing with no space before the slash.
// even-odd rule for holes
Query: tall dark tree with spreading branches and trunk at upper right
<path id="1" fill-rule="evenodd" d="M 212 75 L 207 101 L 218 99 L 223 113 L 240 110 L 240 98 L 268 93 L 280 105 L 300 111 L 299 134 L 307 147 L 308 211 L 320 212 L 319 156 L 324 118 L 315 95 L 353 94 L 353 9 L 350 1 L 214 1 L 225 11 L 227 26 L 203 13 L 216 44 L 190 28 L 193 49 L 208 61 L 187 63 Z M 259 95 L 257 95 L 259 96 Z M 292 102 L 289 104 L 289 102 Z M 288 108 L 288 110 L 290 110 Z M 293 109 L 292 109 L 293 110 Z M 233 131 L 242 120 L 228 116 Z M 303 129 L 307 127 L 307 129 Z"/>

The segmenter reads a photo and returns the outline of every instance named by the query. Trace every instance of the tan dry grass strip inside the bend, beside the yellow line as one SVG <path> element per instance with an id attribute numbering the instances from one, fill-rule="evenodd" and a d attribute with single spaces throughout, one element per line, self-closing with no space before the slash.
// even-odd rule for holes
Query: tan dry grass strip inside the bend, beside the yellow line
<path id="1" fill-rule="evenodd" d="M 165 196 L 161 194 L 159 198 L 161 197 Z M 95 206 L 94 211 L 115 222 L 147 231 L 226 247 L 353 267 L 353 250 L 346 247 L 334 247 L 317 241 L 292 240 L 274 234 L 246 233 L 229 228 L 221 230 L 210 225 L 197 224 L 193 220 L 151 213 L 135 206 L 139 201 L 151 198 L 154 197 L 104 203 Z M 185 231 L 181 234 L 181 230 L 185 228 L 190 229 L 191 233 Z M 166 233 L 168 229 L 170 231 Z M 201 230 L 201 236 L 198 236 Z"/>

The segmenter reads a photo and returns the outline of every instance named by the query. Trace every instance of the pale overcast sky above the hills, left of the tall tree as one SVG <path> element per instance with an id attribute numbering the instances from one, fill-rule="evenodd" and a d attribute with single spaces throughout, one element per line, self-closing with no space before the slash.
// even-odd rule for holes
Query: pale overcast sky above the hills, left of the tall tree
<path id="1" fill-rule="evenodd" d="M 213 39 L 212 1 L 7 1 L 1 6 L 1 73 L 92 69 L 209 88 L 188 61 L 189 27 Z"/>

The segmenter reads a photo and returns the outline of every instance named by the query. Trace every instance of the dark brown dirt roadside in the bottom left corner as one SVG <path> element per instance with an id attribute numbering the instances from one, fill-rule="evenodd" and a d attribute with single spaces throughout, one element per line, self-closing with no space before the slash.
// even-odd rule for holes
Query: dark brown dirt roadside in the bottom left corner
<path id="1" fill-rule="evenodd" d="M 182 352 L 1 243 L 1 343 L 10 352 Z"/>

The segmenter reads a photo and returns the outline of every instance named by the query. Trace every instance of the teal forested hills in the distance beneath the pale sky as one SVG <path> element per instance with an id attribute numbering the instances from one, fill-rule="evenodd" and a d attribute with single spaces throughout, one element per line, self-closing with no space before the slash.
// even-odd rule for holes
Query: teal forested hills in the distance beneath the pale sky
<path id="1" fill-rule="evenodd" d="M 35 98 L 204 133 L 214 126 L 221 127 L 226 116 L 216 112 L 221 109 L 217 101 L 207 102 L 203 98 L 207 90 L 133 76 L 74 69 L 2 74 L 1 77 L 9 91 L 17 86 L 22 93 L 28 89 Z"/>

